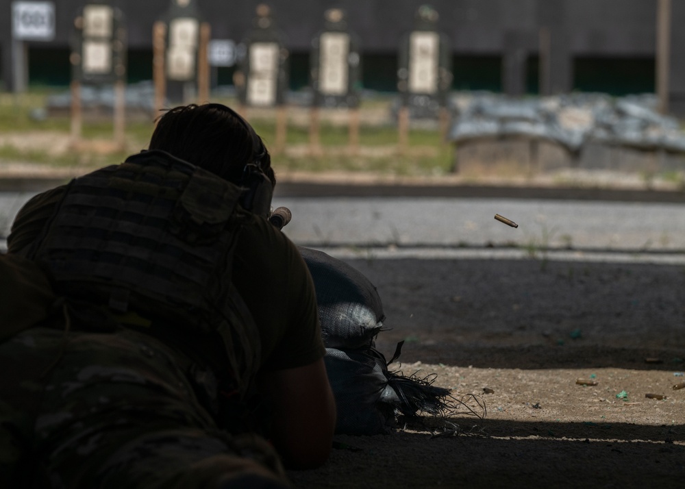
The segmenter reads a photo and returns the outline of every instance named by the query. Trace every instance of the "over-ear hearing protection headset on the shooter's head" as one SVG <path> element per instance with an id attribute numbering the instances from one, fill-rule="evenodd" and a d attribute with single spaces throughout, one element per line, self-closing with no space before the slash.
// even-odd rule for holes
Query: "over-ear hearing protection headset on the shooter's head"
<path id="1" fill-rule="evenodd" d="M 262 158 L 266 155 L 266 148 L 262 138 L 260 138 L 253 127 L 242 118 L 238 112 L 232 108 L 222 105 L 221 103 L 210 103 L 210 107 L 217 108 L 228 112 L 242 127 L 245 128 L 252 140 L 252 161 L 245 165 L 242 171 L 242 179 L 240 179 L 240 186 L 245 188 L 240 199 L 240 205 L 245 210 L 249 210 L 254 214 L 269 217 L 271 214 L 271 197 L 273 197 L 273 184 L 266 176 L 262 169 Z"/>

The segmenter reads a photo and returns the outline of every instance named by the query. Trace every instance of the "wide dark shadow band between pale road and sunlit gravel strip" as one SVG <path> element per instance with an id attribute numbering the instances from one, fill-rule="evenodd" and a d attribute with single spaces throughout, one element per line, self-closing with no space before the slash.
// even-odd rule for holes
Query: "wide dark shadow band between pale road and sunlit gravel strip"
<path id="1" fill-rule="evenodd" d="M 491 368 L 684 368 L 685 266 L 345 260 L 377 287 L 384 352 Z"/>

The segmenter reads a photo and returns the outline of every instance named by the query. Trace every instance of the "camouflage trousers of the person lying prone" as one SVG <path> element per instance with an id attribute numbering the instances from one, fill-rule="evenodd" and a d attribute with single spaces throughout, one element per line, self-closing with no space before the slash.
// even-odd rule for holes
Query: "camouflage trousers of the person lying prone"
<path id="1" fill-rule="evenodd" d="M 241 473 L 287 484 L 264 440 L 216 426 L 179 364 L 129 329 L 36 327 L 0 344 L 0 487 L 212 488 Z"/>

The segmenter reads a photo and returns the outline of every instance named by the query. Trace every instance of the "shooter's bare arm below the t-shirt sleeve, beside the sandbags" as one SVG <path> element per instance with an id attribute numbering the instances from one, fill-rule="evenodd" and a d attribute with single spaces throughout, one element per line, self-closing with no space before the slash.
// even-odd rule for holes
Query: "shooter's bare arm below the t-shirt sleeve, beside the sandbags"
<path id="1" fill-rule="evenodd" d="M 271 440 L 288 468 L 321 466 L 331 451 L 336 405 L 325 364 L 264 373 L 260 390 L 273 405 Z"/>

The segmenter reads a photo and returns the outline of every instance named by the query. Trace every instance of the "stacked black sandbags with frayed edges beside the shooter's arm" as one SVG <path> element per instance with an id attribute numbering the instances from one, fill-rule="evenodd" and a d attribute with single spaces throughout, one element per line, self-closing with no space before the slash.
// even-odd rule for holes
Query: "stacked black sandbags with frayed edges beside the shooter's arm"
<path id="1" fill-rule="evenodd" d="M 349 264 L 321 251 L 300 248 L 319 302 L 324 361 L 338 408 L 337 434 L 375 435 L 395 425 L 398 413 L 440 414 L 449 389 L 431 381 L 388 371 L 375 349 L 385 318 L 376 288 Z"/>

